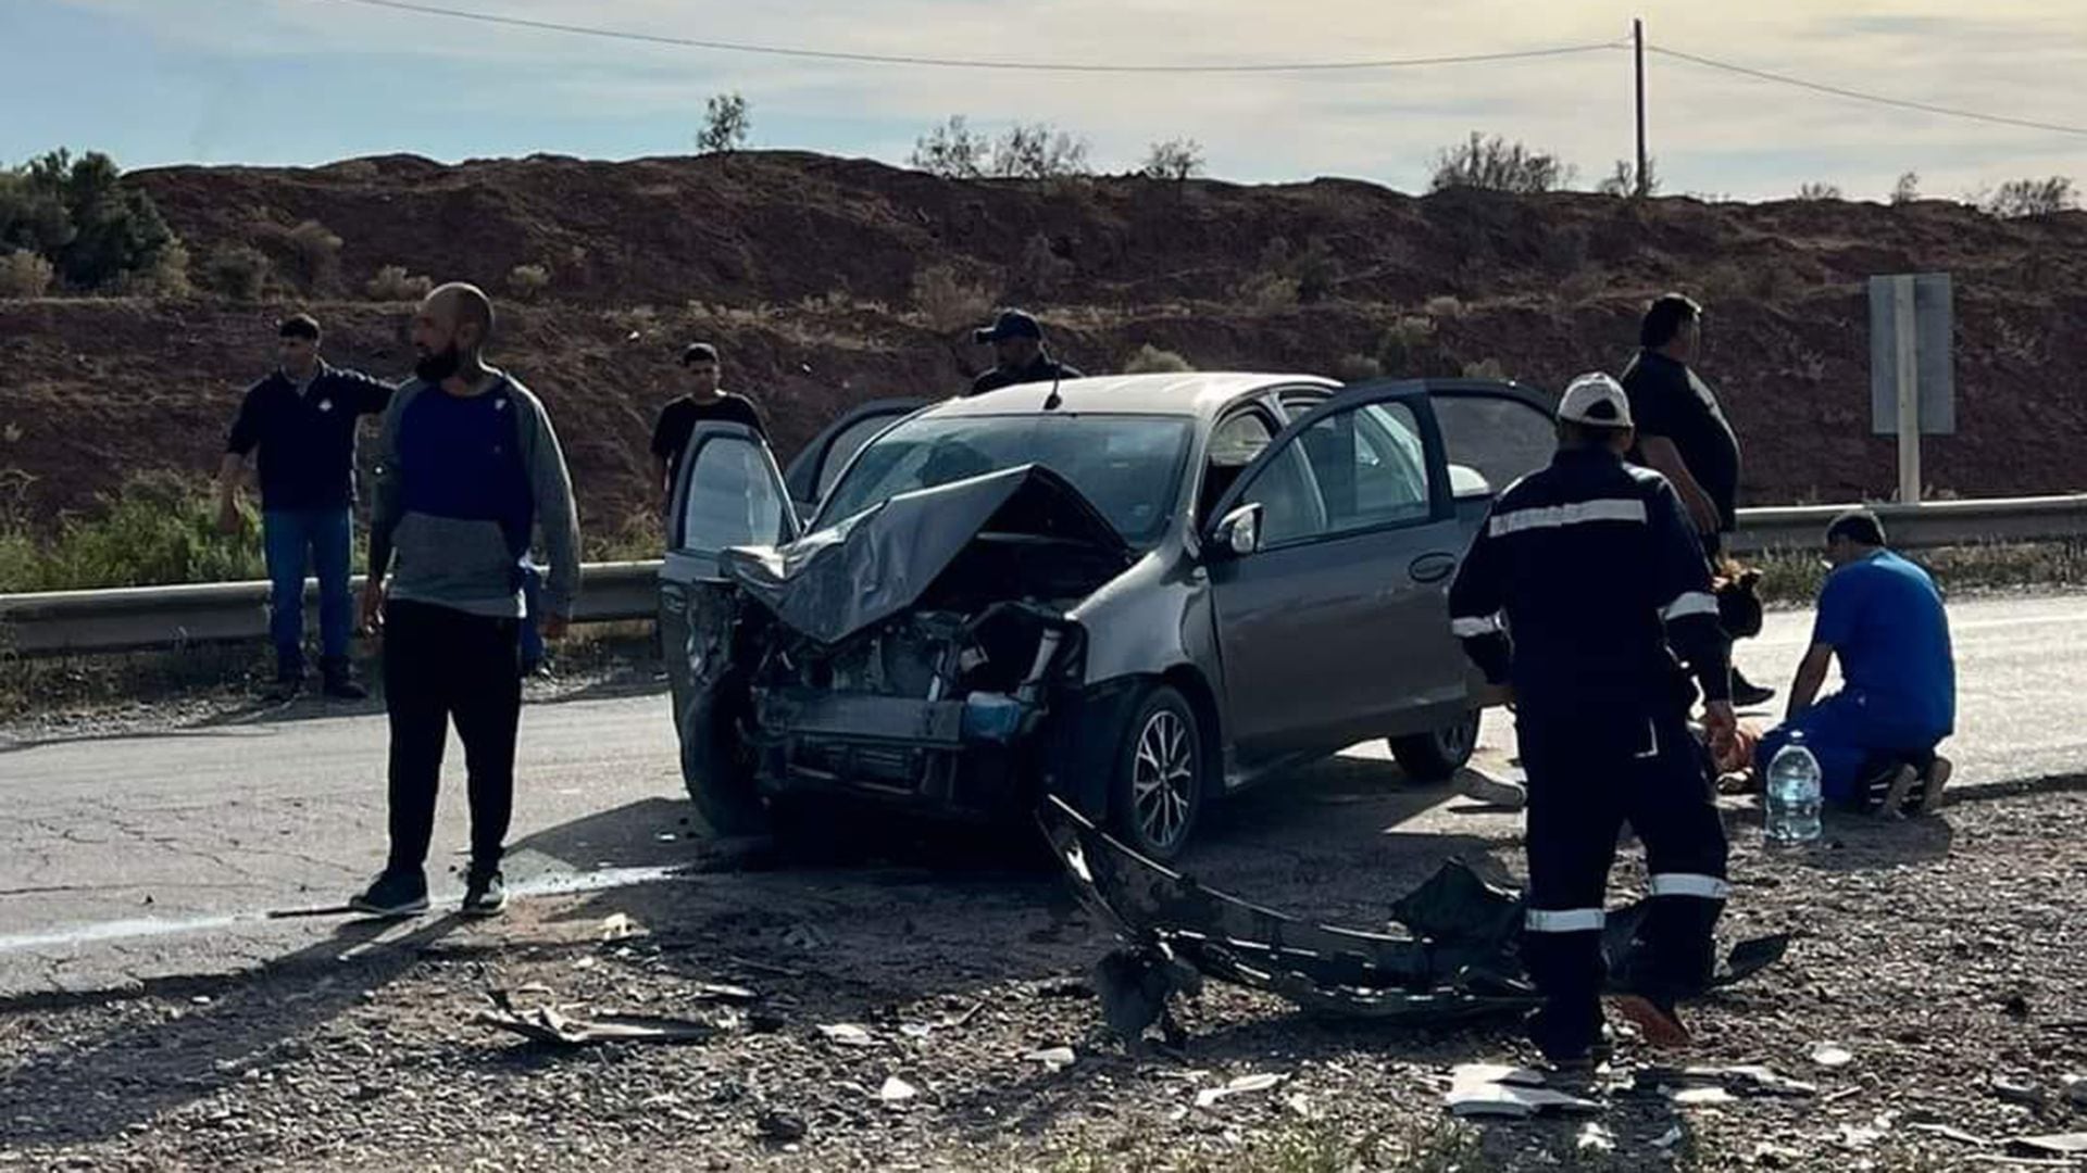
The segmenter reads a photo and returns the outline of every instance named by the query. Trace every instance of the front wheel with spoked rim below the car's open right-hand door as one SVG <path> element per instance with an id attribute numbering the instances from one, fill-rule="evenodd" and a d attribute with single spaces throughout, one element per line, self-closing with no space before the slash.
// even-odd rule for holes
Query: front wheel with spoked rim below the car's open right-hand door
<path id="1" fill-rule="evenodd" d="M 1142 856 L 1171 860 L 1202 816 L 1208 772 L 1202 722 L 1179 691 L 1158 685 L 1131 712 L 1117 749 L 1110 822 Z"/>

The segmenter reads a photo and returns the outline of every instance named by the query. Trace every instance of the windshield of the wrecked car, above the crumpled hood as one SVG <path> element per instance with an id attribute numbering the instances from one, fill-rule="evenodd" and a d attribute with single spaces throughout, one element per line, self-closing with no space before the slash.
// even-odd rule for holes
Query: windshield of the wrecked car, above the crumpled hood
<path id="1" fill-rule="evenodd" d="M 1066 478 L 1123 541 L 1146 547 L 1167 530 L 1190 422 L 1165 415 L 960 415 L 908 420 L 847 465 L 818 511 L 826 526 L 912 493 L 1018 468 L 1044 465 Z"/>

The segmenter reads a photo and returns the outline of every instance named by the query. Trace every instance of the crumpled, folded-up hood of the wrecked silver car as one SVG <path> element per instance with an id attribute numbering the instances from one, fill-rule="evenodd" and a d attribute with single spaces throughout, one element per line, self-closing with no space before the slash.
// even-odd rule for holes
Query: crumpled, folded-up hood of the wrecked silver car
<path id="1" fill-rule="evenodd" d="M 1021 465 L 902 493 L 781 547 L 728 549 L 720 570 L 783 624 L 839 643 L 918 601 L 979 534 L 1081 543 L 1131 559 L 1123 534 L 1062 476 Z"/>

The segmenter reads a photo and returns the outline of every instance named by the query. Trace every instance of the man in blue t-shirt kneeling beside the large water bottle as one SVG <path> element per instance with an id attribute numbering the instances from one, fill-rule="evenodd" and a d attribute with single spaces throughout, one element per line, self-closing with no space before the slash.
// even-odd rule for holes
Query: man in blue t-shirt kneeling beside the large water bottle
<path id="1" fill-rule="evenodd" d="M 1791 685 L 1789 716 L 1761 739 L 1761 774 L 1801 731 L 1826 801 L 1930 814 L 1949 781 L 1949 760 L 1935 747 L 1956 733 L 1943 597 L 1926 570 L 1885 549 L 1885 526 L 1868 509 L 1834 518 L 1826 561 L 1834 570 L 1820 589 L 1812 651 Z M 1843 689 L 1814 703 L 1837 657 Z"/>

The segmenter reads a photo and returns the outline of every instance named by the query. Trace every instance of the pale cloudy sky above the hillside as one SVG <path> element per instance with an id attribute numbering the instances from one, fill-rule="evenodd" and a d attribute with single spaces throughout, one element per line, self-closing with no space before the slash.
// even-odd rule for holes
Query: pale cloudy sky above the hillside
<path id="1" fill-rule="evenodd" d="M 1939 106 L 2087 127 L 2087 0 L 430 0 L 668 38 L 1102 65 L 1382 61 L 1647 42 Z M 0 163 L 52 146 L 165 163 L 317 165 L 413 152 L 634 159 L 691 150 L 739 92 L 758 148 L 904 165 L 950 115 L 1046 121 L 1104 171 L 1194 138 L 1236 182 L 1425 188 L 1471 131 L 1549 150 L 1592 186 L 1634 152 L 1632 54 L 1250 75 L 1037 73 L 799 61 L 490 27 L 355 0 L 0 0 Z M 1964 121 L 1647 58 L 1668 192 L 1885 198 L 2024 175 L 2087 184 L 2087 134 Z"/>

